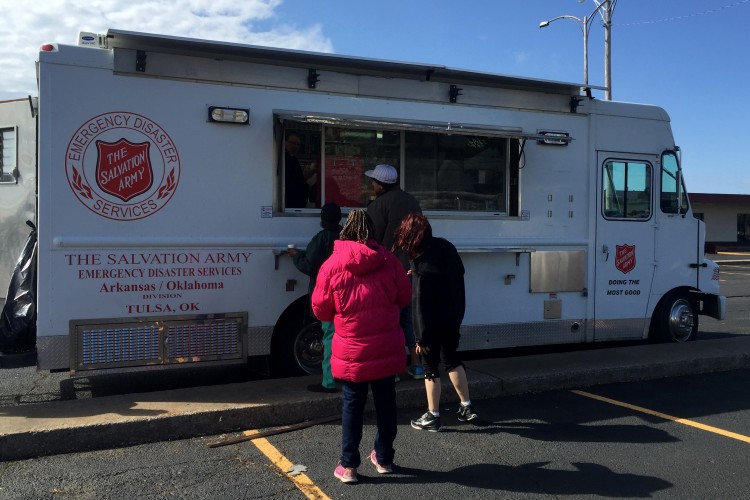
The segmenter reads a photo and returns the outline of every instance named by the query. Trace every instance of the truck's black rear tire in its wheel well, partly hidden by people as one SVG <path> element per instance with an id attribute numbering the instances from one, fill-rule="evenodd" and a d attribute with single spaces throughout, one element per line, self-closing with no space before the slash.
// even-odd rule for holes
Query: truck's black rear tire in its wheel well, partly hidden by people
<path id="1" fill-rule="evenodd" d="M 271 374 L 277 377 L 319 374 L 322 362 L 320 321 L 305 314 L 305 310 L 290 311 L 274 331 Z"/>

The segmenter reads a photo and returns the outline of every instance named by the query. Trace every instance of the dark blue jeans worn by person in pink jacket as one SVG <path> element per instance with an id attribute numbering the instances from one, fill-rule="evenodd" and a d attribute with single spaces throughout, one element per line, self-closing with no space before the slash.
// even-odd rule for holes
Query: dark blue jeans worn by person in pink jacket
<path id="1" fill-rule="evenodd" d="M 375 434 L 375 456 L 378 463 L 390 465 L 396 450 L 393 441 L 398 430 L 396 424 L 396 381 L 386 377 L 370 382 L 341 381 L 341 465 L 359 467 L 362 463 L 359 443 L 362 441 L 364 410 L 368 387 L 372 388 L 375 403 L 375 418 L 378 431 Z"/>

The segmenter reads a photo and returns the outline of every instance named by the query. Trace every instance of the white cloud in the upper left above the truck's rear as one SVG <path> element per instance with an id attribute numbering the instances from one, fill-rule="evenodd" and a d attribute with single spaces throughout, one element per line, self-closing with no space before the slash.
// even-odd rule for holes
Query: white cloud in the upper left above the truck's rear
<path id="1" fill-rule="evenodd" d="M 331 52 L 320 25 L 275 23 L 282 0 L 45 0 L 3 2 L 0 100 L 36 95 L 34 61 L 43 43 L 77 43 L 79 31 L 108 29 Z M 271 29 L 255 28 L 262 22 Z"/>

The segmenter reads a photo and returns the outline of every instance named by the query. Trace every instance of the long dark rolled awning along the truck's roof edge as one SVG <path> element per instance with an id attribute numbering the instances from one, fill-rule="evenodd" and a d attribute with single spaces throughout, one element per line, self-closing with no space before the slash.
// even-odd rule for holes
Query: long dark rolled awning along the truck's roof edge
<path id="1" fill-rule="evenodd" d="M 430 80 L 456 85 L 465 84 L 522 89 L 562 95 L 578 95 L 581 91 L 581 85 L 575 83 L 537 80 L 495 73 L 480 73 L 433 64 L 365 59 L 336 54 L 205 41 L 132 31 L 109 30 L 107 32 L 107 48 L 124 48 L 258 64 L 314 68 L 318 71 L 337 71 L 386 78 Z"/>

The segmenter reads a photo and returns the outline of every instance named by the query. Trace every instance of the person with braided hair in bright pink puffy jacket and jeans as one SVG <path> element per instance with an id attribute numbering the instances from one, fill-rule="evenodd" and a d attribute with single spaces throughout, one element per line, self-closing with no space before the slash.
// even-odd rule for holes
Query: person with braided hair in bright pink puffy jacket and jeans
<path id="1" fill-rule="evenodd" d="M 318 271 L 312 308 L 333 321 L 333 377 L 341 384 L 341 456 L 334 476 L 357 482 L 367 394 L 372 390 L 377 433 L 370 461 L 380 474 L 393 471 L 396 439 L 395 376 L 406 368 L 401 309 L 411 283 L 399 262 L 373 238 L 365 210 L 352 210 L 333 253 Z"/>

